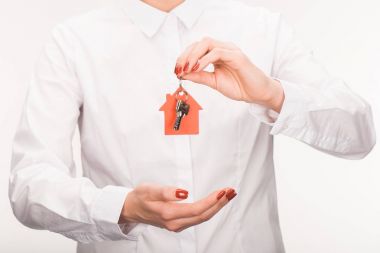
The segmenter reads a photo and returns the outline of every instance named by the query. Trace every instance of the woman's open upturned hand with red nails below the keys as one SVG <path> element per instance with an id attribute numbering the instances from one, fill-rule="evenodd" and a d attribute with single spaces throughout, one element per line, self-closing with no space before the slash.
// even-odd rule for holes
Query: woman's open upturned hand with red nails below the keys
<path id="1" fill-rule="evenodd" d="M 146 223 L 180 232 L 209 220 L 236 196 L 236 192 L 224 188 L 195 203 L 177 203 L 187 196 L 186 190 L 176 187 L 141 184 L 128 193 L 119 223 Z"/>

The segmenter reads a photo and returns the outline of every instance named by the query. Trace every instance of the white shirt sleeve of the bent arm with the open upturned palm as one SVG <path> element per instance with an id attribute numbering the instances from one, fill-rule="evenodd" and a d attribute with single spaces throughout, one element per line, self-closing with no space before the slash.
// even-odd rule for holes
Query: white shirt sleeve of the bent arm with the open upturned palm
<path id="1" fill-rule="evenodd" d="M 97 187 L 77 177 L 72 138 L 82 92 L 75 40 L 62 24 L 51 32 L 36 64 L 14 136 L 9 183 L 13 212 L 24 225 L 82 243 L 136 240 L 141 224 L 118 224 L 130 188 Z"/>

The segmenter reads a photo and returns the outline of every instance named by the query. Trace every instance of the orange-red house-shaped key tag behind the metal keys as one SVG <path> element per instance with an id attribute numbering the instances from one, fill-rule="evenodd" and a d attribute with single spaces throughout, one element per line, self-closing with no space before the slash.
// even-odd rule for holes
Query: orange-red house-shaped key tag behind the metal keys
<path id="1" fill-rule="evenodd" d="M 173 94 L 166 94 L 166 101 L 160 107 L 160 111 L 165 113 L 165 135 L 183 135 L 183 134 L 199 134 L 199 110 L 202 107 L 187 94 L 186 103 L 190 105 L 189 113 L 182 118 L 179 130 L 174 130 L 176 120 L 176 94 L 180 91 L 178 88 Z"/>

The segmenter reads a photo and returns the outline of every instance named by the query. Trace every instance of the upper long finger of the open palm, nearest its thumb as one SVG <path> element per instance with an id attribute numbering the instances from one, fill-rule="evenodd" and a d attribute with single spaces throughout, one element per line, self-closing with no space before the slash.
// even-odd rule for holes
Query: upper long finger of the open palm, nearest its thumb
<path id="1" fill-rule="evenodd" d="M 226 189 L 214 191 L 206 198 L 194 203 L 164 203 L 160 210 L 162 218 L 169 221 L 198 216 L 218 203 L 218 194 L 222 191 L 226 191 Z"/>

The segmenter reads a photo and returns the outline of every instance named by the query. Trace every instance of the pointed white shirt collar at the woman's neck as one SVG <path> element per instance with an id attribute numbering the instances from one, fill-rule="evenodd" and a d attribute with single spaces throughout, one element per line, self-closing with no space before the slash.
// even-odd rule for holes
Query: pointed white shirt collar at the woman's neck
<path id="1" fill-rule="evenodd" d="M 190 29 L 205 8 L 215 0 L 185 0 L 170 12 L 159 10 L 141 0 L 121 0 L 124 11 L 149 37 L 153 36 L 169 13 L 174 13 Z"/>

